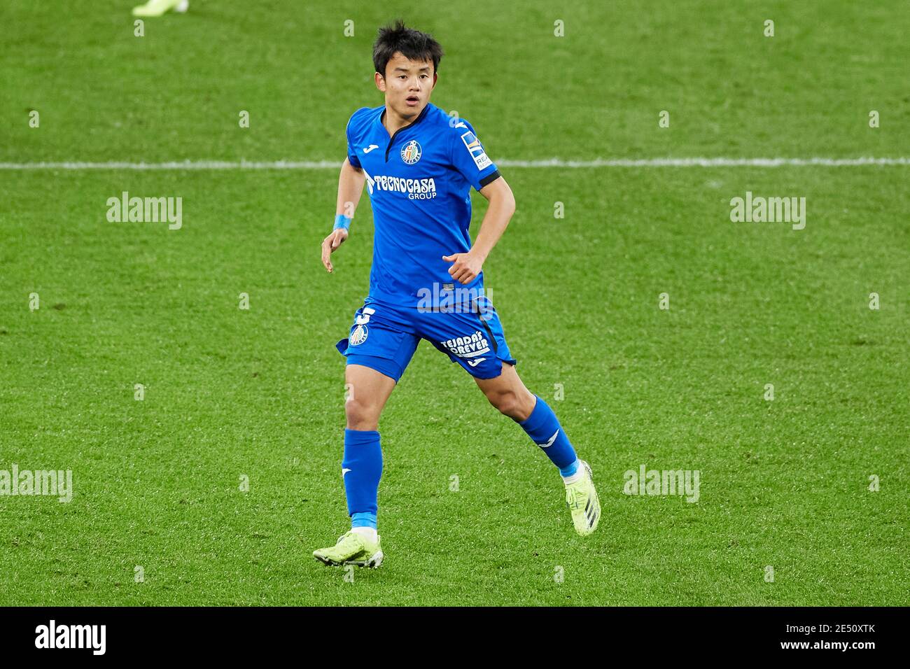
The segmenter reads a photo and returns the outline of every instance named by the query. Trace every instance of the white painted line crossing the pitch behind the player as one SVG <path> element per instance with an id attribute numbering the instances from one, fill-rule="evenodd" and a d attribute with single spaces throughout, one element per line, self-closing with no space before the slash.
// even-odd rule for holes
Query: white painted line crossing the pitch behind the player
<path id="1" fill-rule="evenodd" d="M 338 169 L 340 160 L 220 161 L 184 160 L 165 163 L 110 161 L 0 163 L 0 169 Z M 499 167 L 864 167 L 910 165 L 910 157 L 859 158 L 596 158 L 594 160 L 499 160 Z"/>

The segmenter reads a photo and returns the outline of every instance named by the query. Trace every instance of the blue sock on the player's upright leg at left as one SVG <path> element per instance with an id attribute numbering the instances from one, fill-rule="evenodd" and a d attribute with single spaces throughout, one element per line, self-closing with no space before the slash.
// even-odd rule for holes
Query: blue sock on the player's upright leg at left
<path id="1" fill-rule="evenodd" d="M 351 527 L 376 528 L 377 493 L 382 477 L 382 448 L 375 430 L 345 430 L 341 461 Z"/>

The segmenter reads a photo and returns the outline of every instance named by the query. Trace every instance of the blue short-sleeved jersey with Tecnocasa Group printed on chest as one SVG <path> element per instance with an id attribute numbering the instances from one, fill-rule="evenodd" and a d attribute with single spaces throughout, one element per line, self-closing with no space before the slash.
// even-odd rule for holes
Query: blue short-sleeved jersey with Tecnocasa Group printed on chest
<path id="1" fill-rule="evenodd" d="M 480 190 L 499 170 L 470 123 L 438 106 L 428 103 L 391 137 L 384 113 L 385 106 L 358 109 L 347 129 L 348 161 L 366 175 L 373 208 L 369 297 L 416 307 L 453 284 L 480 291 L 483 272 L 461 284 L 442 256 L 470 251 L 470 188 Z"/>

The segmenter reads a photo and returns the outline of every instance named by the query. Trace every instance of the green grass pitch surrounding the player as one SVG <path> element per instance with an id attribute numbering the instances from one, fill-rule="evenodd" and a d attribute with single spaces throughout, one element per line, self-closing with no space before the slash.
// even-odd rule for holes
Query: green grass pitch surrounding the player
<path id="1" fill-rule="evenodd" d="M 340 164 L 397 16 L 440 40 L 432 101 L 496 161 L 910 156 L 898 2 L 194 0 L 144 37 L 129 8 L 6 4 L 0 162 Z M 0 470 L 75 492 L 0 495 L 0 604 L 910 603 L 908 165 L 502 167 L 488 286 L 600 528 L 575 535 L 550 462 L 421 342 L 380 422 L 387 560 L 353 583 L 310 553 L 348 526 L 334 343 L 369 287 L 367 196 L 328 275 L 335 168 L 8 167 Z M 183 198 L 183 227 L 108 222 L 124 190 Z M 806 198 L 805 228 L 731 222 L 746 191 Z M 623 494 L 642 464 L 700 471 L 699 501 Z"/>

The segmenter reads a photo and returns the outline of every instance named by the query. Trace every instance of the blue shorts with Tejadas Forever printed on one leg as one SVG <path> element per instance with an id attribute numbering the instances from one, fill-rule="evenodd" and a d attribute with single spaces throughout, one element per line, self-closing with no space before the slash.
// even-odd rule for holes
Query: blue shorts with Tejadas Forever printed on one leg
<path id="1" fill-rule="evenodd" d="M 476 379 L 493 379 L 502 363 L 514 365 L 500 317 L 481 296 L 470 308 L 421 310 L 367 298 L 354 315 L 350 334 L 335 345 L 349 365 L 365 365 L 396 382 L 420 340 L 427 340 Z"/>

